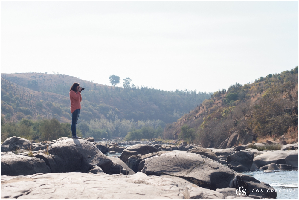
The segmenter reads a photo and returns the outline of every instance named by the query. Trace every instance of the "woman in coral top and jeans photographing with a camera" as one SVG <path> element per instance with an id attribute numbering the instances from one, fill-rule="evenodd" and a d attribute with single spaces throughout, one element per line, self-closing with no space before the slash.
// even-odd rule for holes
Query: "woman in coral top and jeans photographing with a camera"
<path id="1" fill-rule="evenodd" d="M 72 129 L 72 135 L 74 139 L 81 139 L 76 134 L 77 121 L 81 109 L 80 102 L 82 101 L 81 91 L 82 91 L 82 87 L 80 87 L 79 83 L 76 82 L 71 86 L 70 99 L 71 99 L 71 113 L 73 114 L 71 129 Z"/>

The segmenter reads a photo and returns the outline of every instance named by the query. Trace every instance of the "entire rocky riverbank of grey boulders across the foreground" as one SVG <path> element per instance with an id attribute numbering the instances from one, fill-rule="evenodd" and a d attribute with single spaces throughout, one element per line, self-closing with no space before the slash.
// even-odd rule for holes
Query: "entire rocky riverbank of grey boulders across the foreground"
<path id="1" fill-rule="evenodd" d="M 271 199 L 276 198 L 273 187 L 238 171 L 298 168 L 298 143 L 295 150 L 260 152 L 187 143 L 123 147 L 92 138 L 44 143 L 4 141 L 1 199 Z M 121 156 L 108 157 L 109 150 Z"/>

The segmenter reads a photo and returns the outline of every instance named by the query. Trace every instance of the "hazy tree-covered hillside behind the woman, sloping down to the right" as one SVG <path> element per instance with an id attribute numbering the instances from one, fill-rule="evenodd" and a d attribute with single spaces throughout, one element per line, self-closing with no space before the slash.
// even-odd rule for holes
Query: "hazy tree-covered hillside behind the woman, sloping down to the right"
<path id="1" fill-rule="evenodd" d="M 141 86 L 106 86 L 61 74 L 1 74 L 1 113 L 7 119 L 57 118 L 71 122 L 69 88 L 85 87 L 80 118 L 162 120 L 171 123 L 194 109 L 211 94 L 196 91 L 163 91 Z M 7 116 L 8 114 L 8 116 Z"/>

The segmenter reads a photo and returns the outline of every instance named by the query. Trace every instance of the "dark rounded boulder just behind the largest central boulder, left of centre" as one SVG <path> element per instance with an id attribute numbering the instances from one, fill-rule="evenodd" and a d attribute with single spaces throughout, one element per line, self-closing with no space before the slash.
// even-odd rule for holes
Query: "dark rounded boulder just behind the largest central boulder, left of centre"
<path id="1" fill-rule="evenodd" d="M 120 157 L 118 157 L 120 160 L 126 163 L 126 161 L 131 157 L 132 155 L 145 155 L 148 153 L 157 152 L 158 149 L 153 147 L 149 144 L 135 144 L 133 146 L 127 147 L 123 152 L 121 153 Z"/>

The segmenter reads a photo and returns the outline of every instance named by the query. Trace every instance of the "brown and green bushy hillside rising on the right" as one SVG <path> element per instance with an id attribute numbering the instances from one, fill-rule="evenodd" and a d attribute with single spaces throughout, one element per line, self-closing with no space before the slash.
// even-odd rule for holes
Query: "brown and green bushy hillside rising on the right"
<path id="1" fill-rule="evenodd" d="M 163 134 L 218 148 L 235 131 L 256 140 L 277 138 L 290 130 L 297 130 L 298 140 L 298 66 L 214 92 L 177 122 L 167 124 Z"/>

